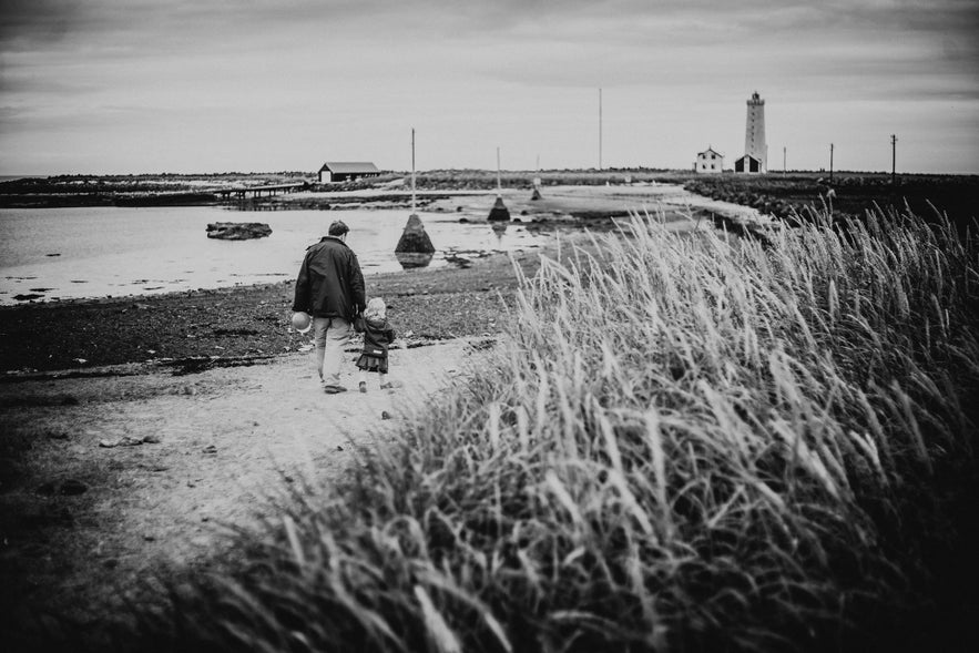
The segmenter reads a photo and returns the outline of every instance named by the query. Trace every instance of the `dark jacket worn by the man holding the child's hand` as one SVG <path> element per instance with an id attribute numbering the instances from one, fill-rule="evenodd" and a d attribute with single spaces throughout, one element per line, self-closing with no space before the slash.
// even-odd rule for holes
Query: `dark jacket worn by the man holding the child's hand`
<path id="1" fill-rule="evenodd" d="M 306 249 L 293 310 L 350 320 L 366 304 L 360 264 L 346 243 L 324 236 Z"/>

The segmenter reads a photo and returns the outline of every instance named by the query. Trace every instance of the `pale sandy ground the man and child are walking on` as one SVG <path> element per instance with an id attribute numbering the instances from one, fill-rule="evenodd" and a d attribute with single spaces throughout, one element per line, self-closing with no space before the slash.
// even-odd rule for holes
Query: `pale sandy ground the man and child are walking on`
<path id="1" fill-rule="evenodd" d="M 184 376 L 0 384 L 3 612 L 95 620 L 161 563 L 206 565 L 226 537 L 218 524 L 248 526 L 290 481 L 336 478 L 354 445 L 398 428 L 491 345 L 392 350 L 404 386 L 379 390 L 373 377 L 367 394 L 346 363 L 351 391 L 325 395 L 308 353 Z"/>

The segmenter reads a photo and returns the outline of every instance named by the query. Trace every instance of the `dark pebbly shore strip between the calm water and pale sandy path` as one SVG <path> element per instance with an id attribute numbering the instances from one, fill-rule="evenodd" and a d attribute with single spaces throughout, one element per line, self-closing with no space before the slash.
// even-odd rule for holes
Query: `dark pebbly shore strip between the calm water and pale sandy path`
<path id="1" fill-rule="evenodd" d="M 528 273 L 538 253 L 518 253 Z M 408 346 L 496 334 L 518 279 L 508 256 L 467 268 L 367 275 Z M 49 370 L 160 359 L 248 359 L 296 351 L 310 336 L 289 325 L 294 282 L 112 299 L 27 304 L 0 309 L 0 371 L 8 378 Z"/>

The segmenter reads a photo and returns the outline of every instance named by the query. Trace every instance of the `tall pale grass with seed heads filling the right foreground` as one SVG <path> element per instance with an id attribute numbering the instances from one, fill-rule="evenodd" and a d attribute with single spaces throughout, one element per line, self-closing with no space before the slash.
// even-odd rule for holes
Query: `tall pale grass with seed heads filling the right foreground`
<path id="1" fill-rule="evenodd" d="M 762 247 L 635 217 L 600 259 L 544 261 L 471 381 L 142 624 L 182 650 L 365 652 L 920 631 L 976 487 L 979 258 L 914 216 L 847 226 Z"/>

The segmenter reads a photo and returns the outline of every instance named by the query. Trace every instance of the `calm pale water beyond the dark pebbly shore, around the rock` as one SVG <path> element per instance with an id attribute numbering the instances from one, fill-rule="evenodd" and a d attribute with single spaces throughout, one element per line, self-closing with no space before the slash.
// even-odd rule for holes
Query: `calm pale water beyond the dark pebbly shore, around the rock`
<path id="1" fill-rule="evenodd" d="M 295 278 L 306 248 L 335 220 L 364 274 L 402 269 L 395 246 L 405 210 L 237 212 L 217 206 L 0 210 L 0 305 L 30 300 L 147 295 Z M 419 213 L 436 253 L 429 267 L 455 257 L 532 249 L 552 236 L 520 225 L 460 223 Z M 208 223 L 264 222 L 254 241 L 206 237 Z M 18 298 L 18 296 L 20 298 Z"/>

